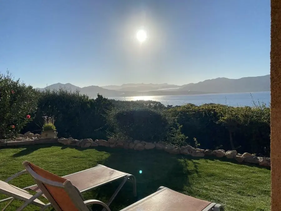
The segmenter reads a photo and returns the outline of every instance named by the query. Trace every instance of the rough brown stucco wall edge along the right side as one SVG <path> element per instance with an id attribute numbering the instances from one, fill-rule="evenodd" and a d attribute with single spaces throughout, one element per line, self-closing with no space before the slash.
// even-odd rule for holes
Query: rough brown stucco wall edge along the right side
<path id="1" fill-rule="evenodd" d="M 281 0 L 271 0 L 271 210 L 281 210 Z"/>

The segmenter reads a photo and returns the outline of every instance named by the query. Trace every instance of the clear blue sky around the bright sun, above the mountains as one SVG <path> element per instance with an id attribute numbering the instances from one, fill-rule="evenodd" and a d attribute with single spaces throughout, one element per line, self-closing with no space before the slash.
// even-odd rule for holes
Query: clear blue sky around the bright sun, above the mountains
<path id="1" fill-rule="evenodd" d="M 0 71 L 34 87 L 260 76 L 269 53 L 269 0 L 0 1 Z"/>

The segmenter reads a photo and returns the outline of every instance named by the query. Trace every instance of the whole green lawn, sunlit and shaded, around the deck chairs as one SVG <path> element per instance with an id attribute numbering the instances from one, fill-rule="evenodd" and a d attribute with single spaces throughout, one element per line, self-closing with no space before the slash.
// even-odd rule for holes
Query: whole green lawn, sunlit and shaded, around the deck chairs
<path id="1" fill-rule="evenodd" d="M 91 168 L 96 164 L 134 174 L 137 181 L 137 198 L 132 195 L 131 184 L 126 184 L 111 204 L 113 211 L 144 198 L 160 186 L 221 203 L 226 211 L 270 210 L 270 170 L 256 165 L 230 162 L 226 158 L 197 159 L 157 150 L 137 152 L 102 147 L 81 149 L 61 145 L 35 145 L 1 149 L 0 179 L 4 180 L 22 170 L 21 163 L 24 160 L 60 176 Z M 120 182 L 107 184 L 83 195 L 86 200 L 99 199 L 106 202 Z M 12 180 L 11 184 L 23 188 L 34 182 L 25 174 Z M 3 198 L 3 195 L 0 195 L 0 198 Z M 46 202 L 44 198 L 42 201 Z M 21 201 L 14 201 L 7 210 L 15 210 L 21 204 Z M 100 207 L 94 209 L 101 210 Z M 38 208 L 30 205 L 25 210 L 34 211 Z"/>

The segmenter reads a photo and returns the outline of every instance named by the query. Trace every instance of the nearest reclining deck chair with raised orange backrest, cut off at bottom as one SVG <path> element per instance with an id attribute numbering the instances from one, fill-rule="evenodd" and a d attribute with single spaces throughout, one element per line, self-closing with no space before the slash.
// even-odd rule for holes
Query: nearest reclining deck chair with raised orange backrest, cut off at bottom
<path id="1" fill-rule="evenodd" d="M 85 201 L 80 191 L 66 178 L 59 177 L 38 166 L 23 162 L 24 168 L 34 178 L 38 187 L 49 199 L 57 211 L 90 211 L 90 204 L 100 204 L 110 211 L 110 208 L 98 200 Z M 24 208 L 26 204 L 23 204 Z M 169 188 L 160 187 L 155 193 L 136 203 L 122 209 L 121 211 L 224 211 L 222 205 L 193 198 L 178 193 Z"/>

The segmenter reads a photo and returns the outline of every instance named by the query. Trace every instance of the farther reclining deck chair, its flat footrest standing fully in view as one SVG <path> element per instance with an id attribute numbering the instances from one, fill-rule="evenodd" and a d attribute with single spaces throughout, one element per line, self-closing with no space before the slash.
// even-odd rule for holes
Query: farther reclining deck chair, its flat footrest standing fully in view
<path id="1" fill-rule="evenodd" d="M 39 207 L 42 207 L 41 210 L 44 210 L 48 206 L 50 206 L 50 203 L 48 203 L 46 205 L 37 199 L 40 195 L 42 195 L 42 191 L 40 190 L 40 188 L 37 185 L 32 185 L 32 186 L 20 189 L 20 188 L 17 188 L 15 186 L 12 186 L 7 183 L 8 181 L 12 180 L 13 178 L 16 178 L 19 175 L 22 175 L 23 173 L 27 173 L 27 171 L 23 170 L 21 172 L 16 173 L 15 175 L 13 175 L 13 176 L 9 177 L 7 180 L 5 180 L 6 183 L 3 181 L 0 181 L 0 193 L 4 193 L 8 196 L 11 196 L 10 198 L 0 200 L 0 203 L 10 200 L 8 202 L 8 204 L 1 211 L 4 211 L 7 208 L 7 206 L 10 203 L 12 203 L 14 198 L 17 198 L 17 199 L 20 199 L 23 201 L 28 200 L 28 202 L 35 204 Z M 73 185 L 75 185 L 75 187 L 81 193 L 123 178 L 123 181 L 121 182 L 119 187 L 116 189 L 116 191 L 113 193 L 113 195 L 111 196 L 109 201 L 106 203 L 108 206 L 111 204 L 111 202 L 114 200 L 116 195 L 119 193 L 119 191 L 121 190 L 121 188 L 124 186 L 124 184 L 127 181 L 130 181 L 133 183 L 133 194 L 134 194 L 134 196 L 136 196 L 136 179 L 135 179 L 134 175 L 131 175 L 131 174 L 128 174 L 125 172 L 121 172 L 121 171 L 117 171 L 115 169 L 108 168 L 103 165 L 96 165 L 93 168 L 88 168 L 88 169 L 80 171 L 80 172 L 76 172 L 76 173 L 72 173 L 72 174 L 63 176 L 63 178 L 70 180 L 71 183 Z M 30 189 L 30 190 L 36 191 L 38 193 L 38 195 L 32 196 L 27 191 L 25 191 L 25 189 Z M 47 198 L 45 195 L 42 195 L 42 196 Z"/>

